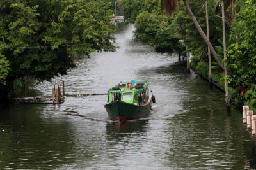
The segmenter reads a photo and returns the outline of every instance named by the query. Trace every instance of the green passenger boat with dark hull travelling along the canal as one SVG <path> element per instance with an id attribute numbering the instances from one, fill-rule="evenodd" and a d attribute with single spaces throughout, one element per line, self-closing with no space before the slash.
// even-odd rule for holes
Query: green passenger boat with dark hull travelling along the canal
<path id="1" fill-rule="evenodd" d="M 152 93 L 152 91 L 150 90 Z M 124 122 L 148 117 L 155 96 L 150 95 L 148 82 L 120 82 L 108 90 L 108 103 L 104 105 L 109 120 Z"/>

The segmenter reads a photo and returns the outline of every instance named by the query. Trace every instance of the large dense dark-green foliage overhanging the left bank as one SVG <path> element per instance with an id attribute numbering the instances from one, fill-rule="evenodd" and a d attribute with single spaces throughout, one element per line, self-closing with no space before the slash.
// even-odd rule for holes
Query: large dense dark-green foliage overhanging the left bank
<path id="1" fill-rule="evenodd" d="M 75 67 L 70 54 L 114 51 L 112 13 L 100 0 L 0 1 L 0 82 L 51 80 Z"/>

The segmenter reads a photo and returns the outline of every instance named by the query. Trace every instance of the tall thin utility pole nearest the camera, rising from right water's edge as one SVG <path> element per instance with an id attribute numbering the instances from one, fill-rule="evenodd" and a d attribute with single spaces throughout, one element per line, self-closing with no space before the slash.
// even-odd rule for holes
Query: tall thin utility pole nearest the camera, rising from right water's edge
<path id="1" fill-rule="evenodd" d="M 224 52 L 224 59 L 227 59 L 226 54 L 226 35 L 225 35 L 225 16 L 224 16 L 224 2 L 221 1 L 221 10 L 222 10 L 222 31 L 223 31 L 223 52 Z M 226 108 L 227 111 L 230 111 L 230 99 L 228 94 L 228 84 L 227 84 L 227 62 L 224 62 L 224 72 L 225 72 L 225 99 L 226 99 Z"/>

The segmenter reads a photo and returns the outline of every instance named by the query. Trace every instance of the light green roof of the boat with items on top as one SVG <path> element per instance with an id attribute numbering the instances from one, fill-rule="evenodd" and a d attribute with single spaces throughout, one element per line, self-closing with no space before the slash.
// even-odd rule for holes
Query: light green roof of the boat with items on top
<path id="1" fill-rule="evenodd" d="M 120 82 L 115 87 L 111 87 L 109 89 L 109 93 L 111 92 L 134 92 L 137 93 L 143 92 L 148 87 L 147 81 L 138 81 L 135 82 L 134 85 L 132 85 L 132 82 Z"/>

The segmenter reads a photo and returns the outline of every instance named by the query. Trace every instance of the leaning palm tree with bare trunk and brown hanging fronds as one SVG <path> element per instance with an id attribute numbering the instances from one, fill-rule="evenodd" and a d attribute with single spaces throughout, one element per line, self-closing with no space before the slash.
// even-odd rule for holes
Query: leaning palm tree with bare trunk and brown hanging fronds
<path id="1" fill-rule="evenodd" d="M 205 36 L 204 31 L 202 31 L 202 28 L 200 27 L 200 25 L 198 24 L 195 16 L 193 15 L 192 11 L 190 10 L 188 1 L 187 0 L 183 0 L 183 3 L 186 6 L 186 9 L 187 9 L 191 19 L 193 20 L 193 22 L 194 22 L 194 24 L 196 26 L 196 29 L 198 30 L 199 34 L 204 39 L 205 43 L 209 46 L 213 57 L 216 59 L 216 61 L 220 65 L 220 67 L 222 69 L 224 69 L 224 66 L 223 66 L 223 63 L 222 63 L 220 57 L 218 57 L 218 55 L 217 55 L 216 51 L 214 50 L 211 42 L 207 39 L 207 36 Z M 162 4 L 163 4 L 162 7 L 164 8 L 164 10 L 166 10 L 168 13 L 172 14 L 172 12 L 175 10 L 175 8 L 179 7 L 180 0 L 162 0 Z"/>

